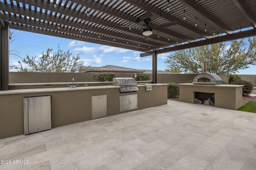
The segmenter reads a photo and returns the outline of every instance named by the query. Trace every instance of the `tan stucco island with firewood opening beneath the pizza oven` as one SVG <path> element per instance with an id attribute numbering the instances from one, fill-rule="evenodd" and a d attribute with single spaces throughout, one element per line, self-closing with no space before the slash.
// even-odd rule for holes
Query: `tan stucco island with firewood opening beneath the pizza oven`
<path id="1" fill-rule="evenodd" d="M 236 110 L 242 106 L 242 87 L 244 85 L 207 85 L 207 84 L 178 84 L 180 102 L 195 103 L 195 93 L 214 94 L 214 106 Z M 210 106 L 209 106 L 210 107 Z"/>

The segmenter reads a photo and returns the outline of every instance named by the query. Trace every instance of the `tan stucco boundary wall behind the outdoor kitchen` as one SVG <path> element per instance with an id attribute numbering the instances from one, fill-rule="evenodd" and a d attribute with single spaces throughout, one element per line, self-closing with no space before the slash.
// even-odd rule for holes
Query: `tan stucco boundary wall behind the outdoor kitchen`
<path id="1" fill-rule="evenodd" d="M 52 83 L 52 82 L 72 82 L 72 78 L 75 82 L 96 82 L 94 74 L 90 72 L 75 72 L 75 73 L 60 73 L 60 72 L 10 72 L 10 84 L 16 83 Z M 135 73 L 115 73 L 116 77 L 134 77 Z M 196 74 L 158 74 L 157 82 L 174 82 L 174 83 L 186 83 L 189 80 L 193 80 Z M 243 75 L 243 80 L 252 82 L 256 87 L 256 75 Z M 220 76 L 223 81 L 229 82 L 229 77 L 226 75 Z M 152 80 L 152 74 L 150 74 L 150 80 Z"/>

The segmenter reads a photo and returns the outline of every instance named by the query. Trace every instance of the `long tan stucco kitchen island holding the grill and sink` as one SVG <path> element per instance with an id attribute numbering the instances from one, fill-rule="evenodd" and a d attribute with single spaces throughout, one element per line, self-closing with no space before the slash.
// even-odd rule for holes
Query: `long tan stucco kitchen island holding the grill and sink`
<path id="1" fill-rule="evenodd" d="M 23 98 L 51 96 L 52 128 L 92 119 L 92 97 L 106 96 L 106 116 L 120 112 L 120 96 L 136 95 L 139 110 L 167 104 L 167 84 L 138 84 L 138 91 L 120 93 L 118 86 L 33 88 L 0 91 L 0 139 L 24 134 Z M 100 107 L 100 106 L 99 106 Z"/>

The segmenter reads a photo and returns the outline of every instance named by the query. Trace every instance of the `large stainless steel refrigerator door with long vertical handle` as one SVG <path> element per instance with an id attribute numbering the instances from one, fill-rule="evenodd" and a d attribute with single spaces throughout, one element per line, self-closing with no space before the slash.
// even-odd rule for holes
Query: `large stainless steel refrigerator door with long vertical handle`
<path id="1" fill-rule="evenodd" d="M 23 98 L 24 134 L 52 128 L 51 96 Z"/>

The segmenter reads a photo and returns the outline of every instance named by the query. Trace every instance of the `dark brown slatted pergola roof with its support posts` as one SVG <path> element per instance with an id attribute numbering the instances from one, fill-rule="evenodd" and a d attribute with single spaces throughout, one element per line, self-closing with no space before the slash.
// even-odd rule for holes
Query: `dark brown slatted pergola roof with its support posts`
<path id="1" fill-rule="evenodd" d="M 160 53 L 256 35 L 255 0 L 0 0 L 0 10 L 1 90 L 9 28 L 142 51 L 153 83 Z"/>

